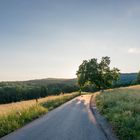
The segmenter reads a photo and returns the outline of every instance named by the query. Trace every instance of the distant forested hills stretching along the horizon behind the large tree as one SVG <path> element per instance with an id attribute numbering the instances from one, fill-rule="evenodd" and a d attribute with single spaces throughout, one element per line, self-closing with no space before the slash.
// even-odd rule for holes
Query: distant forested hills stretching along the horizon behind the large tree
<path id="1" fill-rule="evenodd" d="M 137 73 L 121 74 L 119 81 L 113 87 L 135 84 L 136 78 Z M 71 93 L 78 90 L 77 79 L 48 78 L 22 82 L 0 82 L 0 104 Z M 82 90 L 94 92 L 97 89 L 87 85 Z"/>

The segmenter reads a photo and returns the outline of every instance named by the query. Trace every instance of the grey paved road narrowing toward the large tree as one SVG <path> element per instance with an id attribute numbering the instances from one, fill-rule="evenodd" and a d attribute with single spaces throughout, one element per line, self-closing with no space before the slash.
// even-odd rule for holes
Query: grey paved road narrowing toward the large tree
<path id="1" fill-rule="evenodd" d="M 106 140 L 89 100 L 90 95 L 77 97 L 1 140 Z"/>

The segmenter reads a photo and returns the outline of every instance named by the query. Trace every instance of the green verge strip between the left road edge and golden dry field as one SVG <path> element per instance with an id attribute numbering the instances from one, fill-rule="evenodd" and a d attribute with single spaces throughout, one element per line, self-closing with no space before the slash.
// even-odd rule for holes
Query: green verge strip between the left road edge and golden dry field
<path id="1" fill-rule="evenodd" d="M 61 98 L 58 96 L 58 98 L 54 100 L 34 105 L 23 109 L 20 112 L 13 111 L 10 114 L 0 116 L 0 137 L 24 126 L 28 122 L 38 118 L 40 115 L 47 113 L 49 110 L 60 106 L 78 95 L 79 93 L 73 93 L 66 96 L 63 95 Z"/>

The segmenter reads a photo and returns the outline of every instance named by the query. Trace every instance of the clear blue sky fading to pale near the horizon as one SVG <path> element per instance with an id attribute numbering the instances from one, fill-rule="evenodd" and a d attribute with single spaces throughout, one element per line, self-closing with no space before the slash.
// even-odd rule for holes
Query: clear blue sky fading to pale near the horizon
<path id="1" fill-rule="evenodd" d="M 0 81 L 74 78 L 103 56 L 140 70 L 139 0 L 0 0 Z"/>

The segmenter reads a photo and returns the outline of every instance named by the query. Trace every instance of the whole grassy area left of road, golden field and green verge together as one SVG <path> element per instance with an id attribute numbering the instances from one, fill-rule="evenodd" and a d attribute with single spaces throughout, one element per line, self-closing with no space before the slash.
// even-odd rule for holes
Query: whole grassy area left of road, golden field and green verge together
<path id="1" fill-rule="evenodd" d="M 0 137 L 7 135 L 10 132 L 24 126 L 25 124 L 31 122 L 32 120 L 73 99 L 78 95 L 79 93 L 73 93 L 55 96 L 53 98 L 47 97 L 45 99 L 41 99 L 38 104 L 36 104 L 35 101 L 33 102 L 31 100 L 26 103 L 26 107 L 24 107 L 22 103 L 15 103 L 12 107 L 12 111 L 7 111 L 6 113 L 1 112 L 0 114 Z M 30 102 L 32 105 L 30 105 Z M 2 108 L 3 105 L 0 106 Z M 10 104 L 6 106 L 7 110 L 9 109 L 9 106 Z M 5 105 L 3 107 L 5 107 Z"/>

